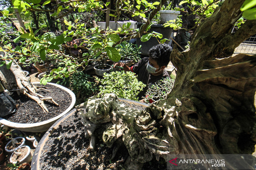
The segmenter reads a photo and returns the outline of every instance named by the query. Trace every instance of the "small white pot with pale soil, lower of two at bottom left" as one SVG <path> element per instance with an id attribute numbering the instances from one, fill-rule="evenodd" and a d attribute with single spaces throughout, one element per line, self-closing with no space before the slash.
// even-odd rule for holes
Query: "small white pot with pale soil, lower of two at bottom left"
<path id="1" fill-rule="evenodd" d="M 17 163 L 18 161 L 20 163 L 30 163 L 32 160 L 32 155 L 30 152 L 30 147 L 29 146 L 22 146 L 18 148 L 16 151 L 14 151 L 10 157 L 10 162 L 11 163 Z"/>

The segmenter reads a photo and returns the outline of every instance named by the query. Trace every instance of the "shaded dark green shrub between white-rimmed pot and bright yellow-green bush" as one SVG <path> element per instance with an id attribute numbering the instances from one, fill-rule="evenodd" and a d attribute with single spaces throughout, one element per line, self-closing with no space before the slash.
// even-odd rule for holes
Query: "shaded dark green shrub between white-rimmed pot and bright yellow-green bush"
<path id="1" fill-rule="evenodd" d="M 95 82 L 93 82 L 90 75 L 81 71 L 75 72 L 69 77 L 63 77 L 58 84 L 70 88 L 76 95 L 79 102 L 84 102 L 89 96 L 92 96 L 97 91 Z"/>

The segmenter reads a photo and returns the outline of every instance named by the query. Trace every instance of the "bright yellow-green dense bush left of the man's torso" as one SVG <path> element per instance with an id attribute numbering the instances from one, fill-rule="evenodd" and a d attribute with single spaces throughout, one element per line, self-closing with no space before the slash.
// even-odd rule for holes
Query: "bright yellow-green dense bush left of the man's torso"
<path id="1" fill-rule="evenodd" d="M 138 81 L 135 73 L 132 72 L 111 72 L 109 74 L 104 73 L 103 79 L 96 79 L 101 82 L 100 93 L 98 97 L 107 93 L 114 93 L 120 98 L 126 98 L 131 100 L 138 100 L 137 95 L 146 87 L 145 84 Z"/>

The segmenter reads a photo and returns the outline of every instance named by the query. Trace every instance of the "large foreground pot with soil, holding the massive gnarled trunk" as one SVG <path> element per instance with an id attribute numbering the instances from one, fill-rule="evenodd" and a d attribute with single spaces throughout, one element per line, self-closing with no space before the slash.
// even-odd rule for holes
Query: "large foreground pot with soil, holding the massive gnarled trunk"
<path id="1" fill-rule="evenodd" d="M 128 99 L 119 101 L 128 108 L 143 110 L 148 106 Z M 31 169 L 52 170 L 60 164 L 69 167 L 68 169 L 117 169 L 125 162 L 129 154 L 124 146 L 120 149 L 126 151 L 118 151 L 115 158 L 112 158 L 113 148 L 108 148 L 102 143 L 97 143 L 95 150 L 90 151 L 90 140 L 85 137 L 84 127 L 76 109 L 56 121 L 39 141 L 32 158 Z"/>

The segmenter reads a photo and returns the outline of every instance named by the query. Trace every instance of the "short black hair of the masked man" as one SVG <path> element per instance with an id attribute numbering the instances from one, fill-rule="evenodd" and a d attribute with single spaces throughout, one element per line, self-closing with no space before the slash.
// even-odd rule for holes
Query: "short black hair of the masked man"
<path id="1" fill-rule="evenodd" d="M 157 44 L 149 49 L 149 57 L 156 60 L 157 64 L 167 66 L 170 61 L 170 54 L 173 49 L 168 44 Z"/>

